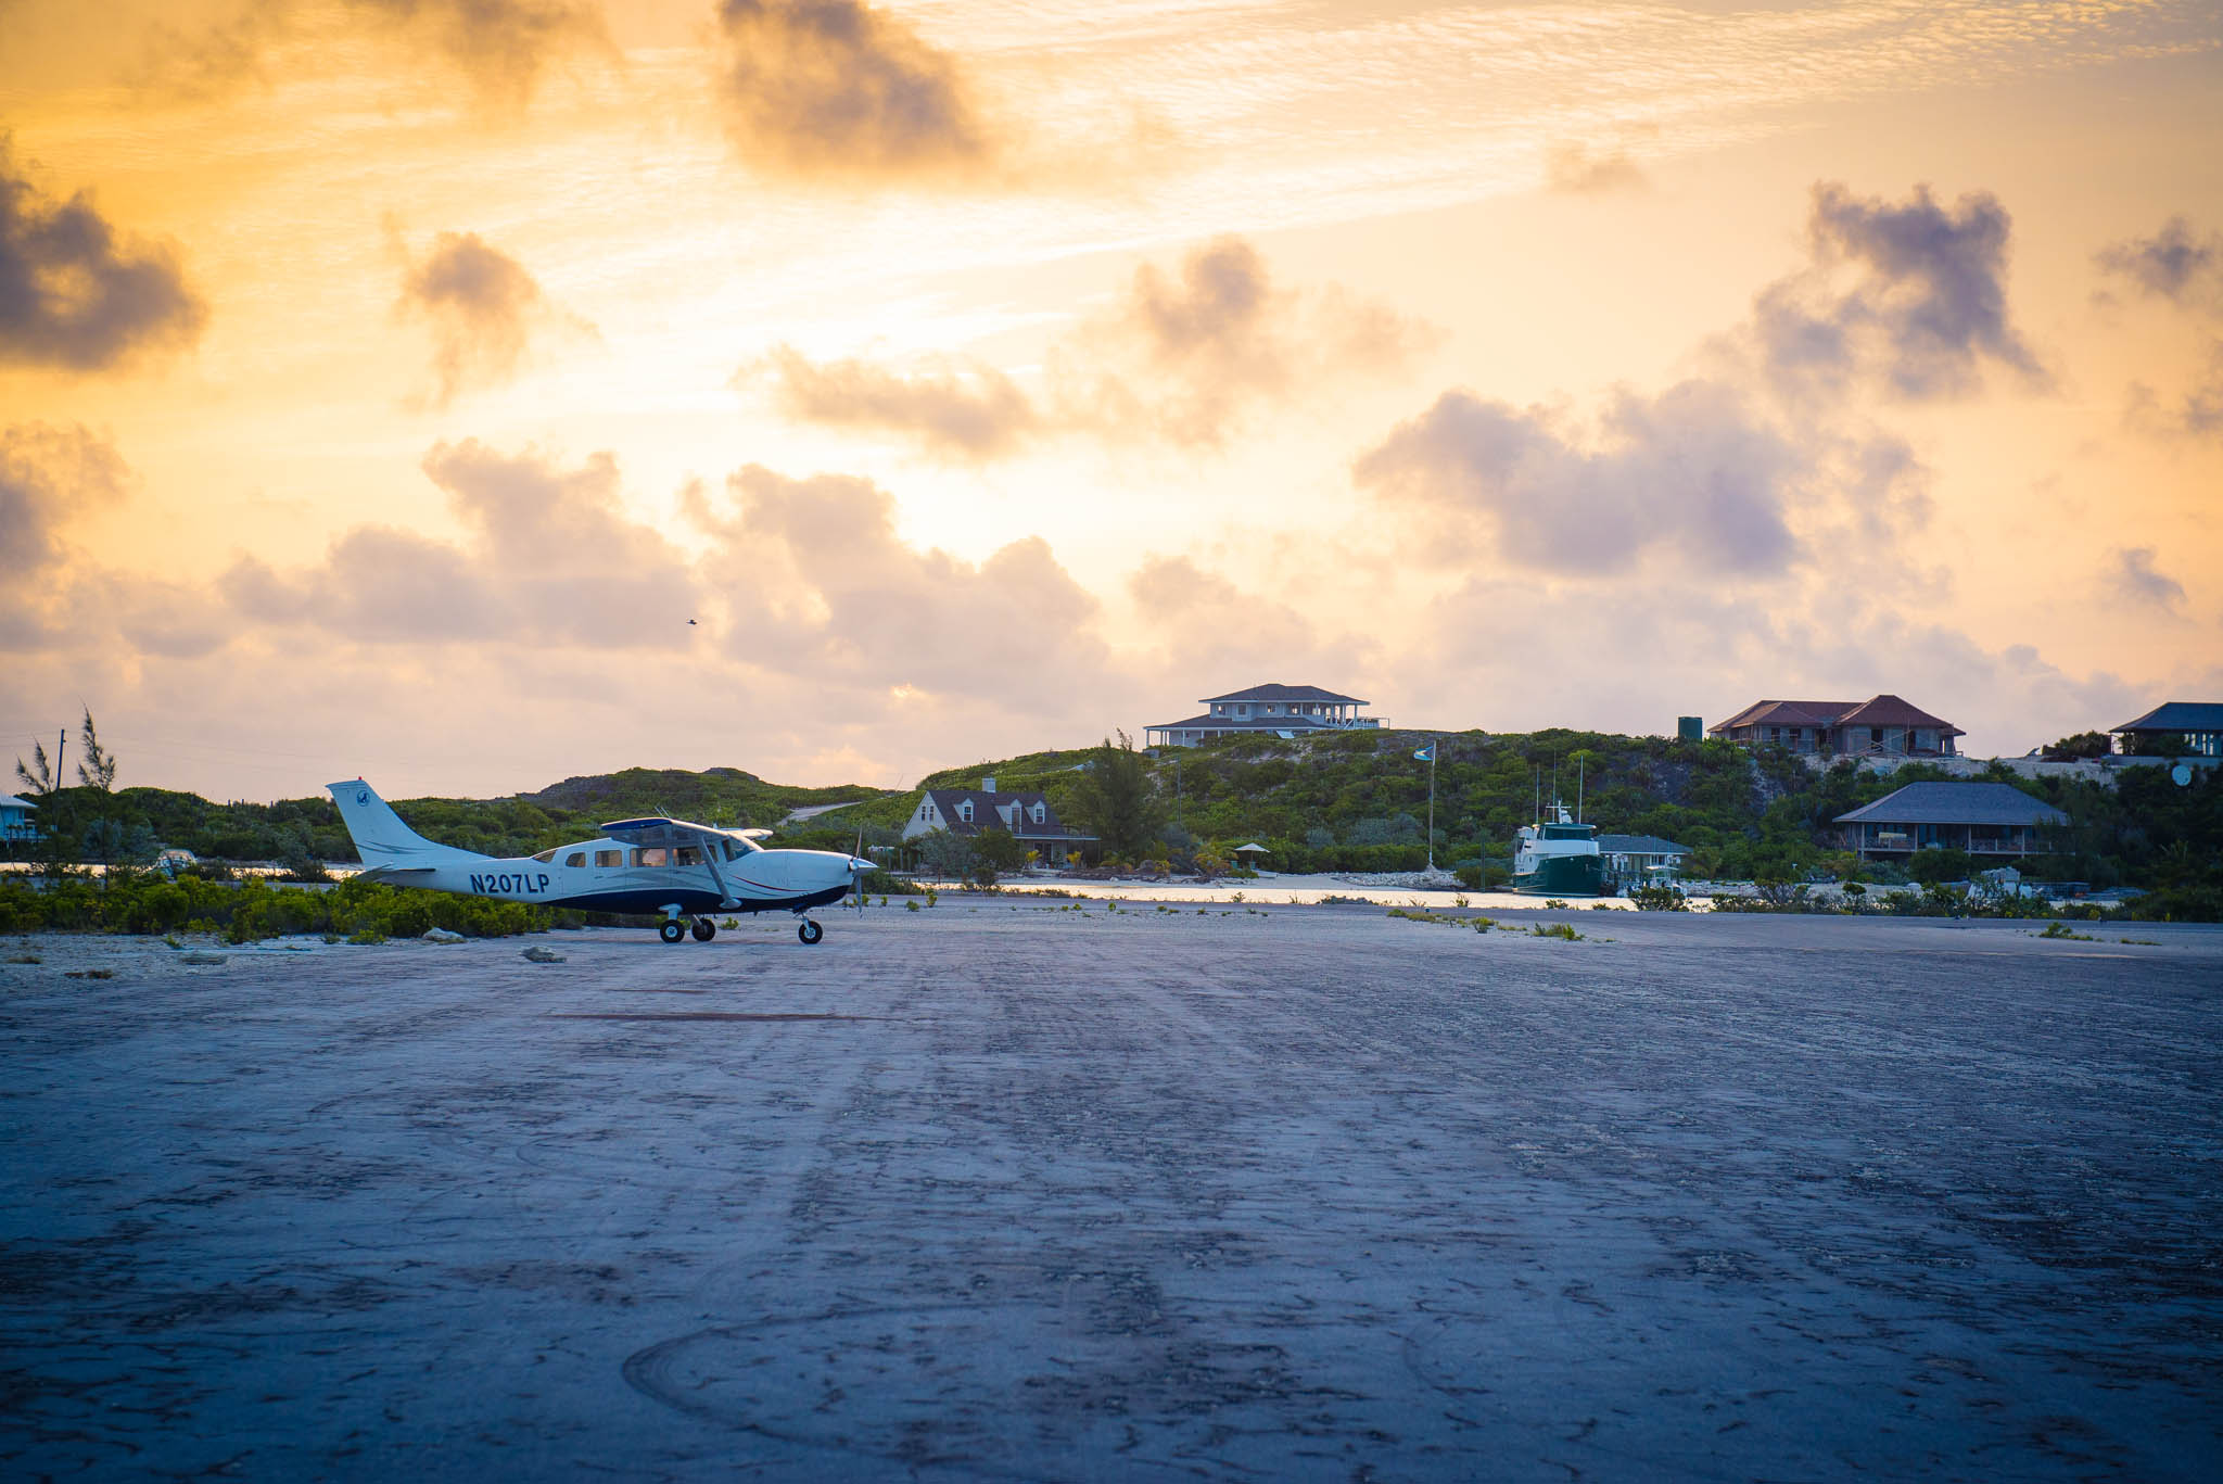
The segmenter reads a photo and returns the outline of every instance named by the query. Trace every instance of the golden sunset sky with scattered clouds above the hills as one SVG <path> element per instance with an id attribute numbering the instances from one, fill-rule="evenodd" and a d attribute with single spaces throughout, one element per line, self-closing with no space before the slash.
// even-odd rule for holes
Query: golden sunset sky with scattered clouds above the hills
<path id="1" fill-rule="evenodd" d="M 2223 699 L 2207 2 L 0 0 L 0 131 L 124 783 Z"/>

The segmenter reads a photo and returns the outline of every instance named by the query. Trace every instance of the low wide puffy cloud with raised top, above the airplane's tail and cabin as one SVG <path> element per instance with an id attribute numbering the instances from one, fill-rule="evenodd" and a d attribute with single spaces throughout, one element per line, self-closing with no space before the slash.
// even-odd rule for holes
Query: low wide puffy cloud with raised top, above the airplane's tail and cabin
<path id="1" fill-rule="evenodd" d="M 325 561 L 276 572 L 242 556 L 220 590 L 240 614 L 380 643 L 680 647 L 700 585 L 662 532 L 631 518 L 618 463 L 562 469 L 540 454 L 442 443 L 425 474 L 467 538 L 362 525 Z"/>

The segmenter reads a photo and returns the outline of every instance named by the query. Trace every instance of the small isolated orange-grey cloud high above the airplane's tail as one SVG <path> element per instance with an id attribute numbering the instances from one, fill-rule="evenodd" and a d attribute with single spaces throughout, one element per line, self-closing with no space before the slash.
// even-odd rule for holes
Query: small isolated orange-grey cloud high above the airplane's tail
<path id="1" fill-rule="evenodd" d="M 402 276 L 396 311 L 431 323 L 433 407 L 447 407 L 458 392 L 509 380 L 534 329 L 565 323 L 534 276 L 476 231 L 442 231 L 431 254 Z"/>

